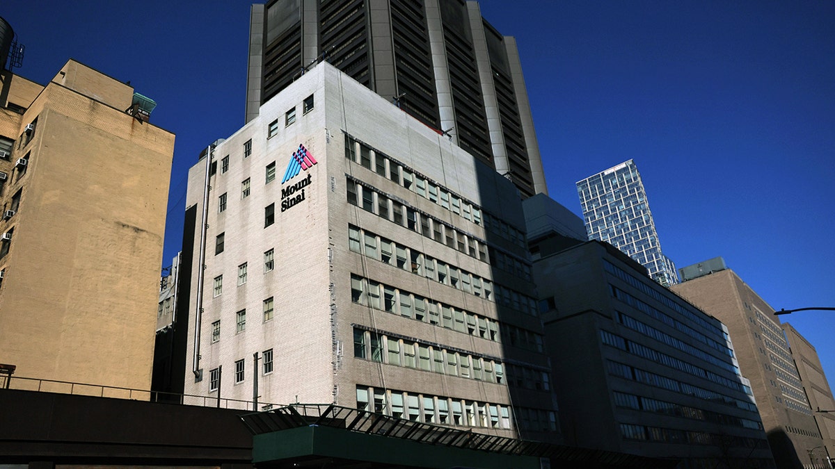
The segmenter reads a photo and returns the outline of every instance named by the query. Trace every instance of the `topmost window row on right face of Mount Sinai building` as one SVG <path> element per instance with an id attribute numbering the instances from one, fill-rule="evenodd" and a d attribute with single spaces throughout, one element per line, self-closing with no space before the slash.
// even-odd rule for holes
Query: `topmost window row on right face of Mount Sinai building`
<path id="1" fill-rule="evenodd" d="M 458 214 L 474 224 L 483 225 L 485 229 L 489 229 L 492 233 L 524 249 L 524 233 L 519 229 L 489 212 L 484 212 L 477 204 L 458 196 L 396 159 L 392 159 L 348 135 L 345 136 L 345 157 L 353 163 L 360 164 L 383 178 L 390 179 L 395 184 L 411 190 L 424 199 L 448 209 L 453 214 Z"/>

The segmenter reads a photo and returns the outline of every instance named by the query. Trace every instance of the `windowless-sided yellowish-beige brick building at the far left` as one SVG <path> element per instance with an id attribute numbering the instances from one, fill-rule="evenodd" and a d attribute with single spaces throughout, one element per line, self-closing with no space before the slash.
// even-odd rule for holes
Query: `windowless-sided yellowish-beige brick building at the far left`
<path id="1" fill-rule="evenodd" d="M 129 85 L 73 60 L 46 86 L 2 77 L 0 362 L 149 389 L 174 134 L 125 112 Z"/>

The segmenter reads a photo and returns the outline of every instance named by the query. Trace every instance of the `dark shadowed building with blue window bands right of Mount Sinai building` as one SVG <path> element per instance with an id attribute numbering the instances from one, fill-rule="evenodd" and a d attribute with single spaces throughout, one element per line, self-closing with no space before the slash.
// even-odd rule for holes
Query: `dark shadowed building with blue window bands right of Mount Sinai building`
<path id="1" fill-rule="evenodd" d="M 774 467 L 725 325 L 539 198 L 524 210 L 565 444 Z"/>

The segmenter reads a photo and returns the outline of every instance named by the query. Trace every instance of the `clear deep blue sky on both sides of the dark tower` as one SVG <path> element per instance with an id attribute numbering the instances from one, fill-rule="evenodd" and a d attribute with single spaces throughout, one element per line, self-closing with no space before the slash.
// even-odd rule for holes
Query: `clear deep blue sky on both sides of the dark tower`
<path id="1" fill-rule="evenodd" d="M 549 194 L 626 159 L 678 267 L 722 256 L 775 309 L 835 307 L 835 3 L 484 0 L 519 45 Z M 185 174 L 244 124 L 249 3 L 7 0 L 47 83 L 68 58 L 157 101 L 176 134 L 163 265 Z M 167 175 L 160 174 L 160 177 Z M 782 316 L 835 379 L 835 312 Z"/>

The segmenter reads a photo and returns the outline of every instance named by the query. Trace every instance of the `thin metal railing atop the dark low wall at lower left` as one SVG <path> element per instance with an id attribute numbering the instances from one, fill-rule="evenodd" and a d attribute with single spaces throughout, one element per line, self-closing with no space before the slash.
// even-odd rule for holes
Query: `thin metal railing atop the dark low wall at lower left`
<path id="1" fill-rule="evenodd" d="M 239 411 L 262 411 L 275 403 L 259 402 L 260 409 L 253 409 L 252 401 L 229 399 L 218 396 L 199 396 L 195 394 L 177 394 L 172 392 L 148 391 L 119 386 L 91 385 L 72 381 L 43 380 L 38 378 L 24 378 L 20 376 L 0 376 L 0 390 L 10 389 L 18 391 L 53 392 L 58 394 L 72 394 L 75 396 L 109 397 L 128 399 L 133 401 L 150 401 L 164 404 L 180 404 L 183 406 L 219 407 Z"/>

